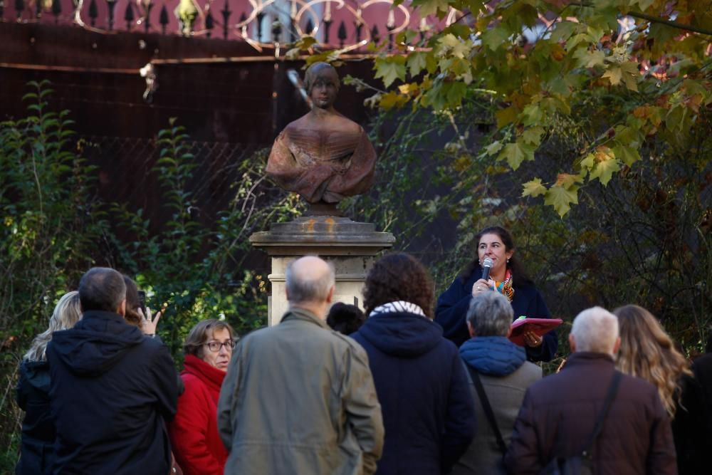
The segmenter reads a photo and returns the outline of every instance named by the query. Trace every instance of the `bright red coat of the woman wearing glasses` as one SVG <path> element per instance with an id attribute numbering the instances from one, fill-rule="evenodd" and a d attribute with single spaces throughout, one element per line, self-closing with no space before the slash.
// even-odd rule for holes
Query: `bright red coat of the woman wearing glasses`
<path id="1" fill-rule="evenodd" d="M 218 433 L 218 399 L 225 372 L 186 355 L 181 377 L 185 392 L 169 425 L 173 452 L 184 475 L 222 475 L 227 450 Z"/>

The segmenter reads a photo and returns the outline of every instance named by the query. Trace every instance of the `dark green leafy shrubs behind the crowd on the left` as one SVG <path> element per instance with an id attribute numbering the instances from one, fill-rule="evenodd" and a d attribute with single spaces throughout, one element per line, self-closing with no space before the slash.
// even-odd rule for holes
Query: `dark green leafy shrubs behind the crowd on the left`
<path id="1" fill-rule="evenodd" d="M 182 365 L 182 342 L 199 320 L 224 318 L 244 334 L 266 322 L 266 276 L 243 266 L 248 236 L 300 213 L 300 203 L 266 185 L 266 151 L 246 156 L 229 205 L 209 225 L 196 219 L 189 178 L 197 162 L 176 125 L 159 132 L 153 172 L 170 219 L 157 233 L 141 209 L 93 197 L 95 168 L 68 111 L 51 112 L 48 83 L 31 83 L 28 117 L 0 124 L 0 473 L 14 470 L 21 411 L 17 368 L 34 335 L 46 330 L 58 298 L 91 266 L 135 277 L 149 306 L 165 308 L 159 334 Z M 130 241 L 117 238 L 121 229 Z"/>

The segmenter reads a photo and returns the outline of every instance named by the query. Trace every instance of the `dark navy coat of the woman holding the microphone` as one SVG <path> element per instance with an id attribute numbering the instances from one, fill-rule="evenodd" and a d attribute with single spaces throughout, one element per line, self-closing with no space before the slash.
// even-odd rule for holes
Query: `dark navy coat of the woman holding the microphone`
<path id="1" fill-rule="evenodd" d="M 470 338 L 465 320 L 472 299 L 472 286 L 481 275 L 481 271 L 476 269 L 464 283 L 461 278 L 456 278 L 438 298 L 435 322 L 443 328 L 444 337 L 458 346 Z M 536 287 L 531 283 L 518 283 L 517 276 L 514 276 L 512 308 L 515 319 L 522 315 L 528 318 L 551 318 L 551 313 Z M 551 330 L 544 335 L 544 341 L 539 348 L 525 347 L 527 359 L 550 361 L 556 355 L 557 347 L 556 331 Z"/>

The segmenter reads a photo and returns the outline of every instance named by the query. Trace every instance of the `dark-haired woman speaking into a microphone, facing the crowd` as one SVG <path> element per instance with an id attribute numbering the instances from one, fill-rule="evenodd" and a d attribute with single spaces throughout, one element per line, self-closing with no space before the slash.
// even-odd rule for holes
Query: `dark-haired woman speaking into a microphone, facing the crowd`
<path id="1" fill-rule="evenodd" d="M 514 256 L 514 241 L 509 231 L 501 226 L 491 226 L 480 231 L 475 239 L 477 257 L 438 298 L 435 322 L 443 328 L 445 338 L 458 346 L 470 338 L 465 323 L 467 308 L 473 296 L 486 291 L 497 291 L 506 296 L 512 304 L 514 318 L 551 318 L 544 299 Z M 488 280 L 481 278 L 482 263 L 486 258 L 493 261 Z M 543 337 L 526 333 L 525 343 L 530 361 L 550 361 L 556 355 L 555 330 Z"/>

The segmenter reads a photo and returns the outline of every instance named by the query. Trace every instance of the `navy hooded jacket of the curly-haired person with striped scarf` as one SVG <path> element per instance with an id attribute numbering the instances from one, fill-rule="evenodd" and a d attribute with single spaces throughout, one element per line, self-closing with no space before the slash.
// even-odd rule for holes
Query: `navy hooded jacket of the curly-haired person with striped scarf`
<path id="1" fill-rule="evenodd" d="M 462 362 L 439 325 L 414 313 L 379 313 L 352 333 L 368 354 L 386 429 L 377 474 L 449 471 L 475 433 Z"/>

